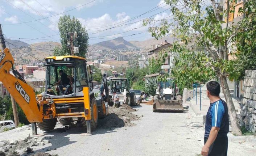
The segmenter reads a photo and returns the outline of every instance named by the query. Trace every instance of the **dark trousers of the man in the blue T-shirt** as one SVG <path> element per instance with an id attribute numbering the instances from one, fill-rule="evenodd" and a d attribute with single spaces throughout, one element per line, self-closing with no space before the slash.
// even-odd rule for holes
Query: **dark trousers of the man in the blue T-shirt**
<path id="1" fill-rule="evenodd" d="M 208 138 L 205 138 L 205 143 Z M 216 138 L 209 148 L 208 156 L 227 156 L 228 153 L 228 137 L 224 136 Z"/>

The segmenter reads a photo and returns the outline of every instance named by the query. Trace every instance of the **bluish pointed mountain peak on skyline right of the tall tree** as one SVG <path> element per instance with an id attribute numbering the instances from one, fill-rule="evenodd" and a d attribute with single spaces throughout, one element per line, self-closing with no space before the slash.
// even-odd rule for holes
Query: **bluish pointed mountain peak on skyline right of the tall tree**
<path id="1" fill-rule="evenodd" d="M 137 48 L 132 43 L 126 41 L 123 37 L 118 37 L 109 41 L 103 41 L 96 43 L 94 46 L 101 47 L 103 49 L 129 49 Z"/>

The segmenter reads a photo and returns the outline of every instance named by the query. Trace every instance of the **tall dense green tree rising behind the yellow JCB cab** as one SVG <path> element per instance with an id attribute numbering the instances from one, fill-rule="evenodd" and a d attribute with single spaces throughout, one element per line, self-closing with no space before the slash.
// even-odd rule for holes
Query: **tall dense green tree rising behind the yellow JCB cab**
<path id="1" fill-rule="evenodd" d="M 69 33 L 77 31 L 77 38 L 73 41 L 75 47 L 79 47 L 79 53 L 75 54 L 80 57 L 85 57 L 88 46 L 88 33 L 80 21 L 73 16 L 64 15 L 59 18 L 58 29 L 61 38 L 61 47 L 55 47 L 53 55 L 62 56 L 70 55 L 70 48 L 67 46 L 67 40 L 69 39 Z"/>

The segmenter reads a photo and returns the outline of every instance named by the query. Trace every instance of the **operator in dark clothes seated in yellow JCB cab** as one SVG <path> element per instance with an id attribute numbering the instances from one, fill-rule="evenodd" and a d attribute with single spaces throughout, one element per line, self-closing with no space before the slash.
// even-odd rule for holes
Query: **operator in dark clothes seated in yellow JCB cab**
<path id="1" fill-rule="evenodd" d="M 70 90 L 70 82 L 72 82 L 72 78 L 63 72 L 63 70 L 59 70 L 59 75 L 61 76 L 61 80 L 57 82 L 59 91 L 62 93 L 62 95 L 67 95 Z M 65 92 L 63 88 L 66 88 Z"/>

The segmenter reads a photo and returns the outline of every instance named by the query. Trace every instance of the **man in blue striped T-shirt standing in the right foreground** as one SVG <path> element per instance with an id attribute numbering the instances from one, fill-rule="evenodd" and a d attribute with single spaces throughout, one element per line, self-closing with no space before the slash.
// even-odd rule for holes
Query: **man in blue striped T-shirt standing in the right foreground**
<path id="1" fill-rule="evenodd" d="M 206 85 L 207 97 L 210 99 L 210 107 L 205 122 L 205 146 L 202 148 L 203 156 L 227 156 L 229 122 L 228 108 L 225 101 L 220 99 L 220 85 L 216 81 L 210 81 Z"/>

